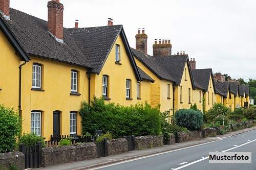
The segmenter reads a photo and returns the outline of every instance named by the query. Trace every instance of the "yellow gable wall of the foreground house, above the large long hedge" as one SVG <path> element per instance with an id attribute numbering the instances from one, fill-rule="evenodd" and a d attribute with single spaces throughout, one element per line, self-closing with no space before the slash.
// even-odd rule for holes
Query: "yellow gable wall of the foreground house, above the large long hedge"
<path id="1" fill-rule="evenodd" d="M 106 59 L 100 74 L 94 74 L 91 76 L 91 99 L 93 95 L 98 98 L 102 97 L 102 77 L 103 75 L 109 76 L 108 83 L 108 98 L 106 103 L 119 103 L 121 105 L 129 106 L 134 105 L 138 102 L 144 103 L 145 101 L 151 102 L 150 98 L 150 81 L 141 82 L 141 99 L 137 99 L 137 79 L 135 77 L 132 64 L 127 56 L 124 44 L 120 36 L 117 37 L 115 44 L 120 45 L 120 58 L 121 65 L 115 63 L 115 45 L 108 58 Z M 132 100 L 126 100 L 126 79 L 131 80 L 131 98 Z"/>

